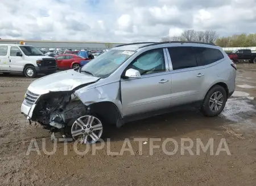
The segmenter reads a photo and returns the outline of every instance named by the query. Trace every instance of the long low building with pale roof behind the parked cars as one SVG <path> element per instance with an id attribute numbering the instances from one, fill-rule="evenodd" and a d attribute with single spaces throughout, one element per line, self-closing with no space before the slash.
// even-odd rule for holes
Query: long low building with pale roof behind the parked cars
<path id="1" fill-rule="evenodd" d="M 0 39 L 0 44 L 20 44 L 24 42 L 27 45 L 31 45 L 37 48 L 60 48 L 64 49 L 88 49 L 88 50 L 103 50 L 106 48 L 112 48 L 123 43 L 101 43 L 101 42 L 75 42 L 75 41 L 51 41 L 51 40 L 12 40 L 12 39 Z"/>

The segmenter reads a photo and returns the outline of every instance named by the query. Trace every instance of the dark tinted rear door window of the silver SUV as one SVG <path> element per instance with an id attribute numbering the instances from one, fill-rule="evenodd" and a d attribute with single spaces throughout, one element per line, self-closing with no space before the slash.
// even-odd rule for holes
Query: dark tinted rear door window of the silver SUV
<path id="1" fill-rule="evenodd" d="M 197 67 L 196 57 L 191 47 L 170 47 L 168 51 L 174 70 Z"/>

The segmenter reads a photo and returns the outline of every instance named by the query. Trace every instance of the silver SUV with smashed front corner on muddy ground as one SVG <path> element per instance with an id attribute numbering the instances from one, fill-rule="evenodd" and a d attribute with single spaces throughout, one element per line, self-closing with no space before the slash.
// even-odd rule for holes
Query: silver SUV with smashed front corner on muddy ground
<path id="1" fill-rule="evenodd" d="M 199 106 L 221 113 L 235 89 L 236 65 L 207 43 L 131 43 L 114 47 L 84 67 L 30 84 L 21 111 L 27 119 L 94 143 L 108 125 Z"/>

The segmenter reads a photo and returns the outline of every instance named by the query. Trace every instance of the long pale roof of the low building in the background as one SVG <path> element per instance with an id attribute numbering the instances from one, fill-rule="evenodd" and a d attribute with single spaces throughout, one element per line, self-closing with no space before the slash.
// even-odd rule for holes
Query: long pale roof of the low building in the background
<path id="1" fill-rule="evenodd" d="M 110 42 L 85 42 L 85 41 L 55 41 L 55 40 L 27 40 L 27 39 L 0 39 L 0 42 L 42 42 L 42 43 L 99 43 L 99 44 L 123 44 Z"/>

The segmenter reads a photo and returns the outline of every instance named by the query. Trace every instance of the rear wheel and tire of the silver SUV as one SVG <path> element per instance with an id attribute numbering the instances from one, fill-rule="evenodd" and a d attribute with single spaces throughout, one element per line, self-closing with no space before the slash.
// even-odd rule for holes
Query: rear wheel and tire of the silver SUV
<path id="1" fill-rule="evenodd" d="M 216 94 L 217 94 L 217 99 L 216 99 Z M 217 116 L 224 109 L 226 100 L 227 100 L 226 90 L 220 85 L 215 85 L 206 94 L 203 105 L 201 106 L 201 111 L 207 117 Z M 215 105 L 217 106 L 217 108 Z"/>

